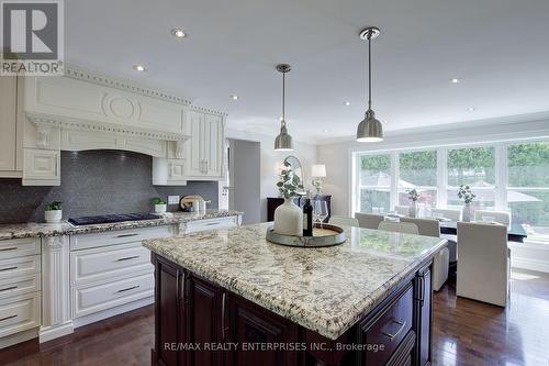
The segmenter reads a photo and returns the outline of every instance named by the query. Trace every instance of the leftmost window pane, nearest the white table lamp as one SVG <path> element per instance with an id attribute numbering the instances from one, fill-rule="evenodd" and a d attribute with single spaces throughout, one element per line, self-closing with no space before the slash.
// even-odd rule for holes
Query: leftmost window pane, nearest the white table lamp
<path id="1" fill-rule="evenodd" d="M 360 212 L 388 212 L 391 208 L 391 155 L 361 155 L 359 164 Z"/>

